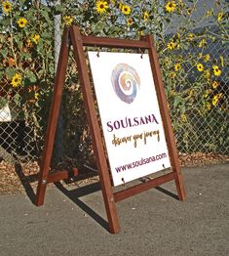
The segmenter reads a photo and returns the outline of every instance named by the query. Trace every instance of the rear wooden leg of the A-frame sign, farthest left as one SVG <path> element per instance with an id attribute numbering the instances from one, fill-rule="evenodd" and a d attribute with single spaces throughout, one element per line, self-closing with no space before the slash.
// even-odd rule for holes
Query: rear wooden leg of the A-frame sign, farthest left
<path id="1" fill-rule="evenodd" d="M 48 128 L 45 139 L 45 147 L 43 150 L 42 160 L 40 164 L 40 173 L 38 179 L 38 187 L 36 193 L 35 204 L 40 206 L 44 203 L 45 192 L 49 182 L 49 171 L 51 158 L 54 149 L 55 135 L 57 130 L 57 119 L 59 107 L 62 97 L 62 88 L 65 80 L 66 67 L 68 62 L 69 46 L 68 44 L 68 28 L 65 28 L 62 36 L 62 43 L 57 64 L 57 75 L 55 80 L 54 96 L 49 116 Z"/>

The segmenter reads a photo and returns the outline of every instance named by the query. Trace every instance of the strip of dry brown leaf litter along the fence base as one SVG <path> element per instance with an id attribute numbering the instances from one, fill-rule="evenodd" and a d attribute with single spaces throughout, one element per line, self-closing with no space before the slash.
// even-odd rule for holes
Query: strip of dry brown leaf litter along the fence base
<path id="1" fill-rule="evenodd" d="M 229 156 L 196 152 L 191 154 L 179 153 L 181 166 L 203 166 L 229 162 Z M 0 194 L 24 193 L 29 188 L 36 192 L 39 166 L 37 162 L 8 163 L 0 162 Z M 97 174 L 88 168 L 81 170 L 78 177 L 71 181 L 61 182 L 64 186 L 74 185 L 83 187 L 98 181 Z M 49 187 L 54 186 L 49 184 Z"/>

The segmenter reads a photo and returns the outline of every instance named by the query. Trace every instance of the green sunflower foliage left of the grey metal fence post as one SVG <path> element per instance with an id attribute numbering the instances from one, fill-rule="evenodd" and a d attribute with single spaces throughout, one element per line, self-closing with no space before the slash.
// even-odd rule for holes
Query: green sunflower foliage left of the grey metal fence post
<path id="1" fill-rule="evenodd" d="M 44 133 L 37 119 L 47 107 L 55 75 L 53 11 L 39 2 L 1 1 L 0 19 L 1 103 L 8 102 L 15 118 L 25 120 L 34 140 Z"/>

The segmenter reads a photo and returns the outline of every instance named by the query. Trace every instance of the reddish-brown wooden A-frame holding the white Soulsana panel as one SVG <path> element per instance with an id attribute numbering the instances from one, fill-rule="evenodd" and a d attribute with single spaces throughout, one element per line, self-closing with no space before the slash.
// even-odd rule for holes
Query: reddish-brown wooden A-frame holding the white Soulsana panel
<path id="1" fill-rule="evenodd" d="M 44 197 L 48 183 L 55 183 L 69 177 L 69 173 L 67 171 L 53 173 L 52 170 L 50 171 L 50 165 L 54 149 L 55 134 L 57 130 L 57 118 L 61 102 L 62 88 L 65 80 L 70 45 L 73 46 L 73 55 L 78 67 L 79 81 L 82 87 L 86 114 L 90 126 L 96 165 L 98 169 L 98 176 L 106 208 L 109 230 L 110 233 L 117 234 L 120 231 L 120 226 L 116 210 L 116 202 L 121 201 L 136 193 L 144 192 L 151 188 L 155 188 L 172 180 L 174 180 L 175 182 L 178 198 L 180 200 L 184 200 L 186 196 L 182 181 L 180 165 L 178 162 L 177 151 L 175 148 L 174 137 L 172 134 L 172 123 L 169 109 L 167 106 L 167 101 L 165 98 L 164 86 L 162 83 L 156 48 L 154 46 L 153 37 L 151 35 L 142 37 L 140 40 L 126 40 L 84 36 L 81 35 L 79 27 L 75 25 L 64 28 L 57 64 L 57 75 L 55 80 L 52 107 L 50 111 L 48 129 L 45 139 L 45 147 L 43 150 L 43 157 L 40 164 L 40 173 L 35 202 L 37 206 L 40 206 L 44 203 Z M 103 147 L 102 137 L 100 134 L 100 128 L 95 111 L 95 99 L 92 92 L 89 70 L 84 52 L 84 47 L 87 46 L 135 49 L 136 51 L 138 51 L 139 49 L 141 51 L 147 50 L 155 83 L 156 94 L 161 111 L 161 117 L 164 124 L 164 131 L 171 159 L 172 172 L 164 174 L 155 179 L 151 179 L 145 183 L 135 185 L 134 187 L 119 192 L 113 192 L 111 178 L 105 156 L 105 149 Z M 72 175 L 77 174 L 77 169 L 73 170 Z"/>

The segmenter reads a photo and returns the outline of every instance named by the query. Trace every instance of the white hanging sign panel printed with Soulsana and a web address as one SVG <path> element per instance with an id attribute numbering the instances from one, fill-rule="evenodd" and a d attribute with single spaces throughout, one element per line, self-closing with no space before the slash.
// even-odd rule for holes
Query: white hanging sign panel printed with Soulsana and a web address
<path id="1" fill-rule="evenodd" d="M 114 186 L 171 167 L 148 55 L 89 59 Z"/>

